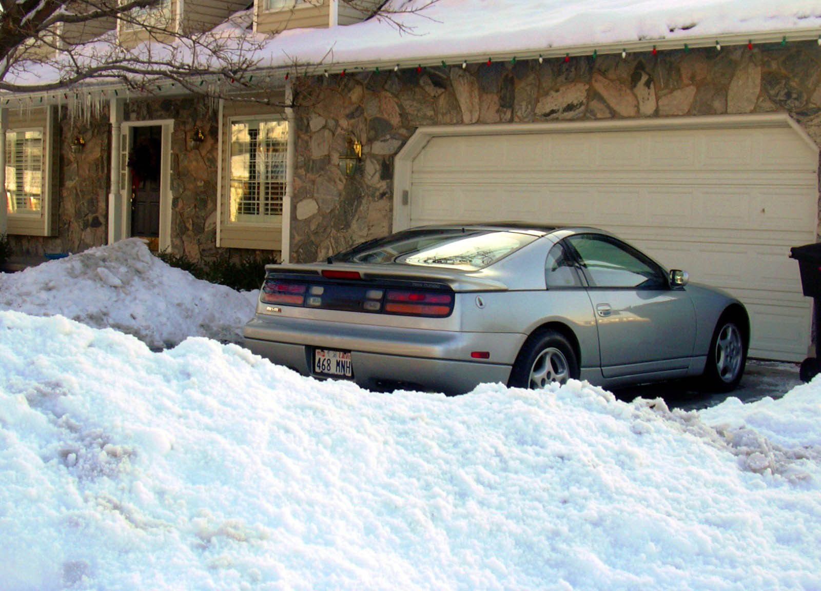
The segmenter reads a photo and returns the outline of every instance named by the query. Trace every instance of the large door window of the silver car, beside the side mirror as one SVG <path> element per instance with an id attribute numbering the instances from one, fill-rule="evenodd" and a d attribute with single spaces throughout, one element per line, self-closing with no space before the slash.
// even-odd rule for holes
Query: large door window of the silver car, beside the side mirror
<path id="1" fill-rule="evenodd" d="M 576 250 L 591 287 L 664 289 L 658 265 L 610 236 L 578 234 L 566 239 Z"/>

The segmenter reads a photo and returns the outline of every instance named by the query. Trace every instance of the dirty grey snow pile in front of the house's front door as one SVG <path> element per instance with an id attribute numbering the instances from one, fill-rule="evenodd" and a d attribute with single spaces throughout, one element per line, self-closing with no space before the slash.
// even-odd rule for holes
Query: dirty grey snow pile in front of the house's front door
<path id="1" fill-rule="evenodd" d="M 172 268 L 138 238 L 0 273 L 0 310 L 62 314 L 95 328 L 117 328 L 154 348 L 190 336 L 241 341 L 258 297 Z"/>

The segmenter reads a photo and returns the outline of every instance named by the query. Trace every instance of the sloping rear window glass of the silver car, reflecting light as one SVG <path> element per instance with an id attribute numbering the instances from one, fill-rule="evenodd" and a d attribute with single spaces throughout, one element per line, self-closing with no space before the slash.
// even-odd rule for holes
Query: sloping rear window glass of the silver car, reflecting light
<path id="1" fill-rule="evenodd" d="M 529 245 L 537 236 L 464 228 L 406 230 L 331 257 L 333 263 L 400 263 L 475 271 Z"/>

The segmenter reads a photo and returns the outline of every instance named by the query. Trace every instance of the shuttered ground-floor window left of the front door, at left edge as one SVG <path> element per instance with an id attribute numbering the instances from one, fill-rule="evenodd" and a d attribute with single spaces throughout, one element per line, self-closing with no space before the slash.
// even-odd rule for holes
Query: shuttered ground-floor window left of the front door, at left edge
<path id="1" fill-rule="evenodd" d="M 11 213 L 43 208 L 43 131 L 7 131 L 6 191 Z"/>

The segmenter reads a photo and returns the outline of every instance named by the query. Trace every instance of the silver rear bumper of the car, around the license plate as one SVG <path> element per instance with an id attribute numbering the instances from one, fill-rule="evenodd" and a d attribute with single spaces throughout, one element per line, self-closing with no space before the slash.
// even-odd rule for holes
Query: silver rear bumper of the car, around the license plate
<path id="1" fill-rule="evenodd" d="M 351 351 L 356 383 L 374 390 L 397 388 L 470 392 L 479 383 L 504 383 L 525 336 L 408 330 L 328 323 L 299 318 L 255 318 L 245 326 L 245 346 L 302 375 L 313 371 L 314 347 Z M 484 350 L 490 360 L 471 361 Z M 493 363 L 493 360 L 500 360 Z"/>

